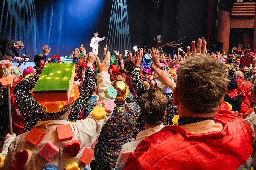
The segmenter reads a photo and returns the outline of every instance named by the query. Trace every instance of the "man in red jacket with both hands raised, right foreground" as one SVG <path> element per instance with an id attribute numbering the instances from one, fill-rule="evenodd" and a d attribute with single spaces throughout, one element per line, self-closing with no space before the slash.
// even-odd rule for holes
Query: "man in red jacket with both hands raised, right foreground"
<path id="1" fill-rule="evenodd" d="M 168 74 L 157 73 L 173 89 L 179 124 L 140 142 L 123 169 L 236 169 L 245 163 L 252 152 L 247 123 L 228 110 L 217 111 L 227 91 L 224 64 L 202 54 L 190 56 L 180 62 L 177 87 Z"/>

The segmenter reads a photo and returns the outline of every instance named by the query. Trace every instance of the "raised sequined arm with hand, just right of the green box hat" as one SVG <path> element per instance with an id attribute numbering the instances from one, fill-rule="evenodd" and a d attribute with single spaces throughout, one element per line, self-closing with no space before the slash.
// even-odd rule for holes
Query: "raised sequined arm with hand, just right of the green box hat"
<path id="1" fill-rule="evenodd" d="M 95 70 L 93 69 L 93 62 L 95 57 L 92 52 L 88 54 L 86 57 L 87 68 L 85 72 L 85 78 L 83 81 L 83 85 L 80 88 L 80 96 L 75 101 L 74 105 L 71 107 L 70 114 L 68 116 L 70 121 L 77 121 L 80 112 L 86 106 L 86 103 L 92 96 L 92 93 L 95 90 Z"/>

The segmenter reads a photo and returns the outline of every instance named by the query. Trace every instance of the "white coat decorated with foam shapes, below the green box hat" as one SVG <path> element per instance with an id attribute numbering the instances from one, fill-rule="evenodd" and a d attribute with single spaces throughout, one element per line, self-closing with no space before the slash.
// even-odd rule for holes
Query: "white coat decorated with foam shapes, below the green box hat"
<path id="1" fill-rule="evenodd" d="M 106 99 L 104 90 L 111 86 L 110 76 L 108 72 L 100 72 L 98 74 L 97 85 L 99 88 L 99 102 L 97 106 L 102 106 L 102 102 Z M 64 169 L 67 164 L 71 164 L 72 162 L 77 162 L 80 169 L 84 169 L 86 165 L 80 162 L 79 159 L 82 156 L 85 147 L 87 145 L 91 145 L 94 141 L 97 140 L 103 125 L 111 117 L 112 113 L 107 113 L 104 119 L 96 120 L 91 115 L 91 112 L 86 117 L 86 119 L 78 120 L 73 125 L 71 125 L 71 129 L 73 131 L 73 139 L 61 142 L 58 141 L 56 127 L 60 125 L 70 124 L 70 121 L 47 120 L 38 122 L 35 127 L 45 133 L 43 139 L 40 141 L 37 147 L 35 147 L 24 139 L 29 132 L 17 136 L 9 146 L 8 152 L 5 157 L 3 169 L 10 169 L 12 163 L 15 162 L 15 153 L 24 149 L 30 149 L 32 151 L 32 158 L 28 165 L 25 167 L 25 169 L 40 170 L 47 165 L 54 165 L 58 169 Z M 59 152 L 49 162 L 38 154 L 39 150 L 48 140 L 53 142 L 60 149 Z M 71 157 L 66 153 L 66 151 L 64 151 L 64 146 L 65 143 L 74 140 L 80 141 L 81 149 L 76 157 Z"/>

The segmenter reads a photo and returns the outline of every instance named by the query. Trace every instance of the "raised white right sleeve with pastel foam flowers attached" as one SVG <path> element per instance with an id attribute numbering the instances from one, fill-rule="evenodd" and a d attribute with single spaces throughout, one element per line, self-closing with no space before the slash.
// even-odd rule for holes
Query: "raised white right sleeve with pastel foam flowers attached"
<path id="1" fill-rule="evenodd" d="M 102 107 L 102 102 L 106 99 L 105 89 L 111 86 L 110 76 L 108 72 L 100 72 L 97 75 L 97 86 L 99 88 L 99 102 L 97 106 Z M 103 125 L 108 121 L 113 112 L 106 113 L 105 118 L 96 120 L 92 116 L 92 112 L 84 120 L 79 120 L 74 123 L 74 129 L 78 131 L 81 139 L 88 141 L 87 144 L 92 144 L 100 135 Z"/>

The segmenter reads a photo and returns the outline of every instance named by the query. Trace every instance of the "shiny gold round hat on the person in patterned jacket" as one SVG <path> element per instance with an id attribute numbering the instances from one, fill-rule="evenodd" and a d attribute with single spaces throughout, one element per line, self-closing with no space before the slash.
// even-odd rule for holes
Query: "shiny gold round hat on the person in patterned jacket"
<path id="1" fill-rule="evenodd" d="M 117 97 L 116 100 L 125 100 L 130 92 L 129 86 L 122 80 L 115 80 L 111 83 L 111 85 L 116 89 L 117 91 Z"/>

